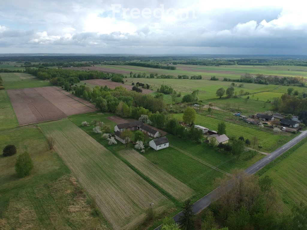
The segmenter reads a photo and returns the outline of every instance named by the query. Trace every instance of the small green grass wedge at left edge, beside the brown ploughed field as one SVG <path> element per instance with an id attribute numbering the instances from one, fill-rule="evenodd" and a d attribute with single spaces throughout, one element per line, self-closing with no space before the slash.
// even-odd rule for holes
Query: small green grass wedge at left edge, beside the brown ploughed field
<path id="1" fill-rule="evenodd" d="M 0 124 L 0 130 L 18 126 L 18 121 L 6 90 L 0 90 Z"/>

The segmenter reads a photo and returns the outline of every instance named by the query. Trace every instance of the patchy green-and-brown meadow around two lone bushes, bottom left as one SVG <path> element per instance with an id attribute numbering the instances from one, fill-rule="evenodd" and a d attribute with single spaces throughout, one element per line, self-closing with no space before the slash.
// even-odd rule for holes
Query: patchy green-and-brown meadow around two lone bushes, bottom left
<path id="1" fill-rule="evenodd" d="M 1 150 L 7 144 L 17 148 L 13 156 L 0 156 L 0 228 L 109 229 L 62 159 L 46 150 L 45 141 L 34 125 L 0 132 Z M 23 151 L 30 153 L 34 168 L 17 178 L 14 164 Z"/>

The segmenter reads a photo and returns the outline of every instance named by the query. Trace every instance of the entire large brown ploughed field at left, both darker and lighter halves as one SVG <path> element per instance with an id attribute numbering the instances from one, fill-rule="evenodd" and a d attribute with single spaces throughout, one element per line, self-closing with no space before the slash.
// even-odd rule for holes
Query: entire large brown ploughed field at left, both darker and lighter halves
<path id="1" fill-rule="evenodd" d="M 56 120 L 94 110 L 67 97 L 55 87 L 7 90 L 19 125 Z"/>

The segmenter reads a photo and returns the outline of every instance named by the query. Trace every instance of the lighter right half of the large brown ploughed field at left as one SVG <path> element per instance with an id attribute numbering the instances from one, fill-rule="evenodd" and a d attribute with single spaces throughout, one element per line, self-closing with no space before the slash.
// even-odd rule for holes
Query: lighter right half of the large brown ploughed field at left
<path id="1" fill-rule="evenodd" d="M 35 90 L 67 116 L 95 111 L 94 109 L 91 109 L 75 99 L 63 94 L 61 92 L 63 90 L 59 91 L 56 87 L 39 87 L 35 88 Z"/>

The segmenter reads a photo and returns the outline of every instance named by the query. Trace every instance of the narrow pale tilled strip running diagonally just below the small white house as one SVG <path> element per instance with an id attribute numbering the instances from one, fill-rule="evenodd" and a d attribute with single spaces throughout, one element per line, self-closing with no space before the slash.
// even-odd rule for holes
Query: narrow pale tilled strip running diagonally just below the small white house
<path id="1" fill-rule="evenodd" d="M 119 154 L 176 199 L 185 200 L 192 195 L 191 188 L 154 165 L 134 149 L 123 150 Z"/>

